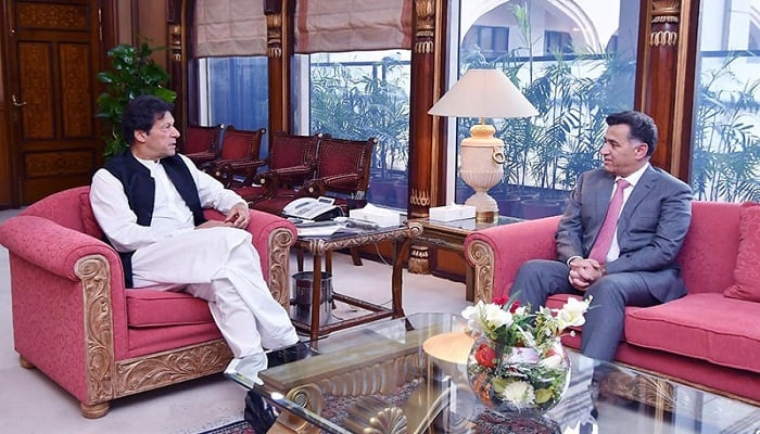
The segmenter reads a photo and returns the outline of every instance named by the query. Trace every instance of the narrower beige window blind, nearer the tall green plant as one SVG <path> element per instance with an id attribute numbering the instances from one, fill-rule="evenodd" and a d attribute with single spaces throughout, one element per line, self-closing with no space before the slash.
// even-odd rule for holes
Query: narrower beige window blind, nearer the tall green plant
<path id="1" fill-rule="evenodd" d="M 195 0 L 194 56 L 266 55 L 264 0 Z"/>

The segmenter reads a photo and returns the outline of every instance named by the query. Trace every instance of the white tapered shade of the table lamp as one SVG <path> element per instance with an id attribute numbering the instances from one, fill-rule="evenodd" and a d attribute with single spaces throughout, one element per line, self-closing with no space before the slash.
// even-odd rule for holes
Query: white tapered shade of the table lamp
<path id="1" fill-rule="evenodd" d="M 469 69 L 428 111 L 435 116 L 528 117 L 539 112 L 499 69 Z"/>

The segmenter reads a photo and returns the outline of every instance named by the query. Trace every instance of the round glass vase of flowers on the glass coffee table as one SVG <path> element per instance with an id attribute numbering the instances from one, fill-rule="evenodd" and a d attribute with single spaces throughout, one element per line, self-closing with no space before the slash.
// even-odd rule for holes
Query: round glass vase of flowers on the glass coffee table
<path id="1" fill-rule="evenodd" d="M 476 396 L 499 413 L 543 414 L 554 408 L 570 384 L 570 362 L 559 339 L 545 348 L 477 337 L 467 360 Z"/>

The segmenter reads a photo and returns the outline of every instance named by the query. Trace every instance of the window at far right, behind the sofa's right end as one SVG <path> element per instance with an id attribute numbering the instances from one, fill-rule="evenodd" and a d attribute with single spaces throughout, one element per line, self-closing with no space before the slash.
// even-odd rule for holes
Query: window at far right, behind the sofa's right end
<path id="1" fill-rule="evenodd" d="M 691 179 L 695 199 L 760 201 L 759 12 L 757 2 L 702 2 Z"/>

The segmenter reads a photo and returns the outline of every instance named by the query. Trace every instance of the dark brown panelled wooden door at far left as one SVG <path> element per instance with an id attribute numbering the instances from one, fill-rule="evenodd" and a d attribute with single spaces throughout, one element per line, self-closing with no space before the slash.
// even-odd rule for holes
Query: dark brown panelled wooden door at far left
<path id="1" fill-rule="evenodd" d="M 7 3 L 15 205 L 90 182 L 100 166 L 96 127 L 101 64 L 98 0 Z"/>

